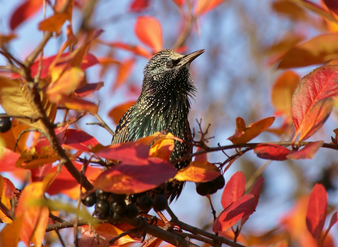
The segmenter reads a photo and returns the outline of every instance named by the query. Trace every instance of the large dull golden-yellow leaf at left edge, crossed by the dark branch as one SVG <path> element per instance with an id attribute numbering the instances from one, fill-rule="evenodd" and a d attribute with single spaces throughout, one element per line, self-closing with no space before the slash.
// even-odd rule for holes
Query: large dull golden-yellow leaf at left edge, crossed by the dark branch
<path id="1" fill-rule="evenodd" d="M 40 84 L 43 84 L 43 81 Z M 40 91 L 40 99 L 47 116 L 53 122 L 56 115 L 56 105 L 48 101 L 47 94 L 43 93 L 42 90 Z M 29 89 L 19 79 L 11 80 L 0 77 L 0 104 L 8 115 L 34 117 L 38 113 Z M 17 120 L 32 128 L 44 130 L 44 125 L 40 119 L 35 122 L 24 118 L 18 118 Z"/>

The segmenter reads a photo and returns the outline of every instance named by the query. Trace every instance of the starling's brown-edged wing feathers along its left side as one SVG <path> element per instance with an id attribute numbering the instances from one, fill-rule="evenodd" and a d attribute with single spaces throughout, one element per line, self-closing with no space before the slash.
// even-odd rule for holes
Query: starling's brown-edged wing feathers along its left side
<path id="1" fill-rule="evenodd" d="M 126 142 L 128 140 L 129 134 L 128 124 L 130 122 L 130 115 L 132 110 L 134 110 L 134 106 L 130 107 L 120 119 L 118 125 L 116 126 L 115 134 L 113 136 L 111 145 Z M 103 171 L 111 167 L 110 166 L 111 162 L 109 160 L 106 160 L 105 163 L 106 166 L 103 168 Z"/>

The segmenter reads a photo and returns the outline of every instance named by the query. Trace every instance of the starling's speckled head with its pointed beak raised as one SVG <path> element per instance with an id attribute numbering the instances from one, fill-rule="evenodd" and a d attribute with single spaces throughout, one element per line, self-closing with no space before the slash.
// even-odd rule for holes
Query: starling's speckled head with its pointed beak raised
<path id="1" fill-rule="evenodd" d="M 159 51 L 144 68 L 142 91 L 151 95 L 174 92 L 192 96 L 197 89 L 189 66 L 203 52 L 204 49 L 181 55 L 169 49 Z"/>

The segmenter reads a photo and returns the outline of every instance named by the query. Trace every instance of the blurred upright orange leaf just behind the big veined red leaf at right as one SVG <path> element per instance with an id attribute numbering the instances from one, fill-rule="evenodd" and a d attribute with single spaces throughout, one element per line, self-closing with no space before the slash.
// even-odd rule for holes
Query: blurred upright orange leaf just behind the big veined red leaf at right
<path id="1" fill-rule="evenodd" d="M 278 114 L 291 115 L 292 94 L 299 80 L 293 71 L 286 71 L 277 78 L 272 88 L 271 101 Z"/>

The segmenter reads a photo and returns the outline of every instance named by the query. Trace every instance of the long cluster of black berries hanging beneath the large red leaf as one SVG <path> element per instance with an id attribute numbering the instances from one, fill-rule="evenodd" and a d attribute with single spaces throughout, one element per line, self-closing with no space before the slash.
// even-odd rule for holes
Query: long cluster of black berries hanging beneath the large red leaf
<path id="1" fill-rule="evenodd" d="M 103 190 L 96 190 L 86 195 L 82 199 L 82 203 L 87 207 L 95 204 L 95 216 L 98 219 L 120 220 L 123 216 L 127 218 L 135 218 L 140 211 L 148 212 L 150 209 L 154 211 L 162 211 L 168 205 L 168 200 L 164 195 L 156 195 L 151 198 L 148 195 L 141 196 L 136 204 L 126 204 L 126 195 L 114 194 Z"/>

